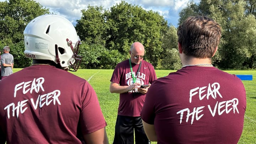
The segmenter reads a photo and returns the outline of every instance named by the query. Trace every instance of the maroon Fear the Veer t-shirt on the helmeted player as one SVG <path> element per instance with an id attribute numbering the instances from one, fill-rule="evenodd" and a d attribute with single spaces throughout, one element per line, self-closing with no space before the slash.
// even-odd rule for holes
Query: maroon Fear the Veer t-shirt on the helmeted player
<path id="1" fill-rule="evenodd" d="M 0 143 L 82 143 L 105 127 L 84 79 L 49 65 L 24 68 L 0 82 Z"/>

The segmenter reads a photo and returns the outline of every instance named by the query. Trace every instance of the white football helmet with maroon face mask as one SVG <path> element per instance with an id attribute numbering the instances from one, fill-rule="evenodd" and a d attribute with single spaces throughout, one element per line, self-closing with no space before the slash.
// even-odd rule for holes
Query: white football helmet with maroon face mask
<path id="1" fill-rule="evenodd" d="M 24 30 L 25 57 L 51 60 L 60 67 L 76 71 L 81 63 L 78 55 L 79 36 L 73 24 L 58 15 L 42 15 L 28 23 Z"/>

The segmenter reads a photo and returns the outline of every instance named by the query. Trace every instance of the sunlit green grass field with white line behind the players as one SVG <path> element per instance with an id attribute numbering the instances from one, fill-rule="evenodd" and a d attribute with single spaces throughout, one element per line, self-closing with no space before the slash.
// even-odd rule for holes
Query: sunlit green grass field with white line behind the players
<path id="1" fill-rule="evenodd" d="M 14 69 L 14 72 L 20 69 Z M 174 70 L 156 70 L 158 78 L 168 75 Z M 117 117 L 117 108 L 119 104 L 119 94 L 111 94 L 109 91 L 110 79 L 113 70 L 104 69 L 79 69 L 77 72 L 71 72 L 81 78 L 86 79 L 95 89 L 100 101 L 101 109 L 108 126 L 106 127 L 110 144 L 113 143 L 114 127 Z M 226 71 L 230 74 L 253 75 L 252 81 L 242 81 L 246 89 L 247 108 L 245 112 L 244 130 L 239 140 L 239 144 L 256 144 L 256 71 Z M 156 144 L 156 142 L 153 142 Z"/>

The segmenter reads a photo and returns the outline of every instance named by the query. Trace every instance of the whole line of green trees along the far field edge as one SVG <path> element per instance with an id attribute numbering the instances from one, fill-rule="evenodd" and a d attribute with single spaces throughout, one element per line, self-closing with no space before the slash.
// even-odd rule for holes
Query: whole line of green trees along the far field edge
<path id="1" fill-rule="evenodd" d="M 106 10 L 87 6 L 76 20 L 76 31 L 82 44 L 81 69 L 114 69 L 129 58 L 130 45 L 141 42 L 145 60 L 155 69 L 180 69 L 177 28 L 158 12 L 144 10 L 125 1 Z M 23 31 L 33 18 L 50 14 L 49 9 L 34 0 L 0 2 L 0 47 L 11 47 L 15 68 L 25 68 Z M 188 16 L 207 15 L 222 26 L 222 39 L 212 59 L 220 69 L 256 69 L 256 0 L 201 0 L 188 2 L 179 13 L 179 24 Z"/>

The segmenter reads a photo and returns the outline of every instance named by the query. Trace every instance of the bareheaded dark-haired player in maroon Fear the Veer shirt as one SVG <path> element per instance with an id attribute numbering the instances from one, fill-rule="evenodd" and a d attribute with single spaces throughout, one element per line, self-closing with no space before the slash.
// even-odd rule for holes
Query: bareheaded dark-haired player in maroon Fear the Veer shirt
<path id="1" fill-rule="evenodd" d="M 244 126 L 242 81 L 211 64 L 221 37 L 211 18 L 188 17 L 178 27 L 182 68 L 153 82 L 141 117 L 159 144 L 237 144 Z"/>

